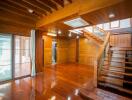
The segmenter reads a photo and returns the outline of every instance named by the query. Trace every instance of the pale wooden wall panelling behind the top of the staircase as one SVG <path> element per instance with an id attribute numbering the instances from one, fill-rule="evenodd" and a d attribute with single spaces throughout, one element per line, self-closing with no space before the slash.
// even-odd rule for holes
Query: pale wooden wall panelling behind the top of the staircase
<path id="1" fill-rule="evenodd" d="M 117 46 L 117 47 L 131 47 L 132 34 L 111 35 L 110 44 L 111 46 Z"/>

